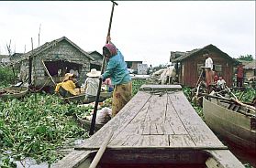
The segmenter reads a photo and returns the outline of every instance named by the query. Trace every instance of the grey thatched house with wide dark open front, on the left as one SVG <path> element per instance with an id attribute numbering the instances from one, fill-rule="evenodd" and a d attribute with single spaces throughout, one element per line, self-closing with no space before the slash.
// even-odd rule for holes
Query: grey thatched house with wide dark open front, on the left
<path id="1" fill-rule="evenodd" d="M 37 88 L 53 86 L 50 76 L 58 83 L 67 72 L 74 72 L 78 76 L 79 84 L 82 84 L 86 73 L 90 71 L 91 62 L 95 61 L 95 58 L 70 39 L 61 37 L 23 54 L 20 60 L 16 60 L 21 62 L 19 78 L 23 81 L 28 80 L 29 58 L 32 60 L 31 83 Z"/>

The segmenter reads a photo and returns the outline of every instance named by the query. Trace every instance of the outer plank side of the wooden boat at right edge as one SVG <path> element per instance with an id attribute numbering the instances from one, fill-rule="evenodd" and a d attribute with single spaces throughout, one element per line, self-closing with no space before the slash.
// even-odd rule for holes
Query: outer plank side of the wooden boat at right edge
<path id="1" fill-rule="evenodd" d="M 256 130 L 254 120 L 238 111 L 228 110 L 217 101 L 203 100 L 206 124 L 223 139 L 246 152 L 256 153 Z"/>

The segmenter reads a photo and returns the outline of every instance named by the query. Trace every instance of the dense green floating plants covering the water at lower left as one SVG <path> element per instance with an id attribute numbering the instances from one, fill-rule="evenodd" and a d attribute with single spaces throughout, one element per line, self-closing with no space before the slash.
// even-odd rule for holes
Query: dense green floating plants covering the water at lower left
<path id="1" fill-rule="evenodd" d="M 64 104 L 49 94 L 29 94 L 22 100 L 0 100 L 0 166 L 16 167 L 14 160 L 33 158 L 54 163 L 63 157 L 61 148 L 88 133 L 72 120 L 72 113 L 86 112 Z"/>

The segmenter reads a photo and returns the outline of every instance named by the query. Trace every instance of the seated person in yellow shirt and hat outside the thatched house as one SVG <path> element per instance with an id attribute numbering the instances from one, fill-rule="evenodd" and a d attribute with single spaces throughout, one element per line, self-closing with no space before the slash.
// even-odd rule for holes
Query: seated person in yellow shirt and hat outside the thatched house
<path id="1" fill-rule="evenodd" d="M 63 81 L 57 84 L 55 91 L 59 92 L 61 96 L 64 98 L 77 95 L 73 80 L 74 80 L 74 74 L 66 73 Z"/>

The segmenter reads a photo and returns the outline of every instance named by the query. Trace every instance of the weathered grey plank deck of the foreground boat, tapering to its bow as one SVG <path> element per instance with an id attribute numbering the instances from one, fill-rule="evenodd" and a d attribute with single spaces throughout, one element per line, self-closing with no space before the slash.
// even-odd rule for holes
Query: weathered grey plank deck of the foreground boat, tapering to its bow
<path id="1" fill-rule="evenodd" d="M 221 160 L 225 167 L 243 167 L 197 115 L 179 85 L 140 89 L 115 118 L 53 167 L 76 167 L 88 150 L 98 149 L 110 131 L 114 132 L 110 149 L 202 149 L 213 158 L 225 153 L 226 160 Z M 209 159 L 206 165 L 212 162 Z"/>

